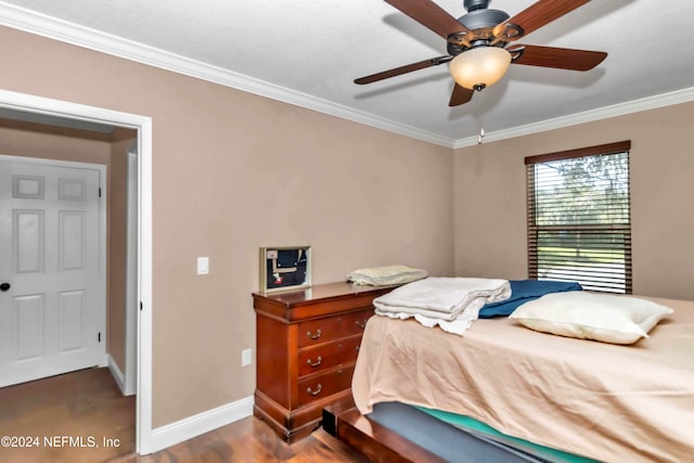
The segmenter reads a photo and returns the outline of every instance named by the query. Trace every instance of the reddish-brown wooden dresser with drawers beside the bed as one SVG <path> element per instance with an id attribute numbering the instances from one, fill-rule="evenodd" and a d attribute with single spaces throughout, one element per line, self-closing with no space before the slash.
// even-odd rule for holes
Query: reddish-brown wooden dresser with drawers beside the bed
<path id="1" fill-rule="evenodd" d="M 254 294 L 254 414 L 287 442 L 314 430 L 323 407 L 351 397 L 351 375 L 372 301 L 391 290 L 330 283 Z"/>

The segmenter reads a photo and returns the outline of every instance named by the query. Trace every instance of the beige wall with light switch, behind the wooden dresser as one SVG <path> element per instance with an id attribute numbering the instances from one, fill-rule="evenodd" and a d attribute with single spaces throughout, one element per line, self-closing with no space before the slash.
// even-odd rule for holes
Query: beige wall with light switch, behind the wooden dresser
<path id="1" fill-rule="evenodd" d="M 8 28 L 0 51 L 0 88 L 153 118 L 155 427 L 253 394 L 260 246 L 311 245 L 314 283 L 453 272 L 451 150 Z"/>

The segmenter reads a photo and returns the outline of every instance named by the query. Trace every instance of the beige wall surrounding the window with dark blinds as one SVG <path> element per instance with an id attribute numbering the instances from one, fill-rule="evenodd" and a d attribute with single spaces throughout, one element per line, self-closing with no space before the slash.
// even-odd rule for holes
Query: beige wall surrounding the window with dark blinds
<path id="1" fill-rule="evenodd" d="M 631 140 L 633 293 L 694 299 L 694 103 L 460 149 L 455 273 L 527 276 L 524 157 Z"/>

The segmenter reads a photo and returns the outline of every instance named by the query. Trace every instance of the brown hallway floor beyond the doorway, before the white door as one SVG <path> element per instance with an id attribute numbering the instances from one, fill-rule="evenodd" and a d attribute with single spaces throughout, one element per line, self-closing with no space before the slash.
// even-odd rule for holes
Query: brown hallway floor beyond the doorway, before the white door
<path id="1" fill-rule="evenodd" d="M 130 453 L 134 400 L 105 368 L 0 388 L 0 437 L 24 447 L 3 441 L 0 462 L 100 462 Z"/>

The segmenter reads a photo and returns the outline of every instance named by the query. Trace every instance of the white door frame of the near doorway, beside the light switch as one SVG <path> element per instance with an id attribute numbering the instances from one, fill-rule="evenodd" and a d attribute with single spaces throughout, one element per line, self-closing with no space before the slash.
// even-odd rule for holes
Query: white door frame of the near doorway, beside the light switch
<path id="1" fill-rule="evenodd" d="M 152 452 L 152 118 L 0 89 L 0 107 L 134 129 L 138 132 L 136 451 Z"/>

